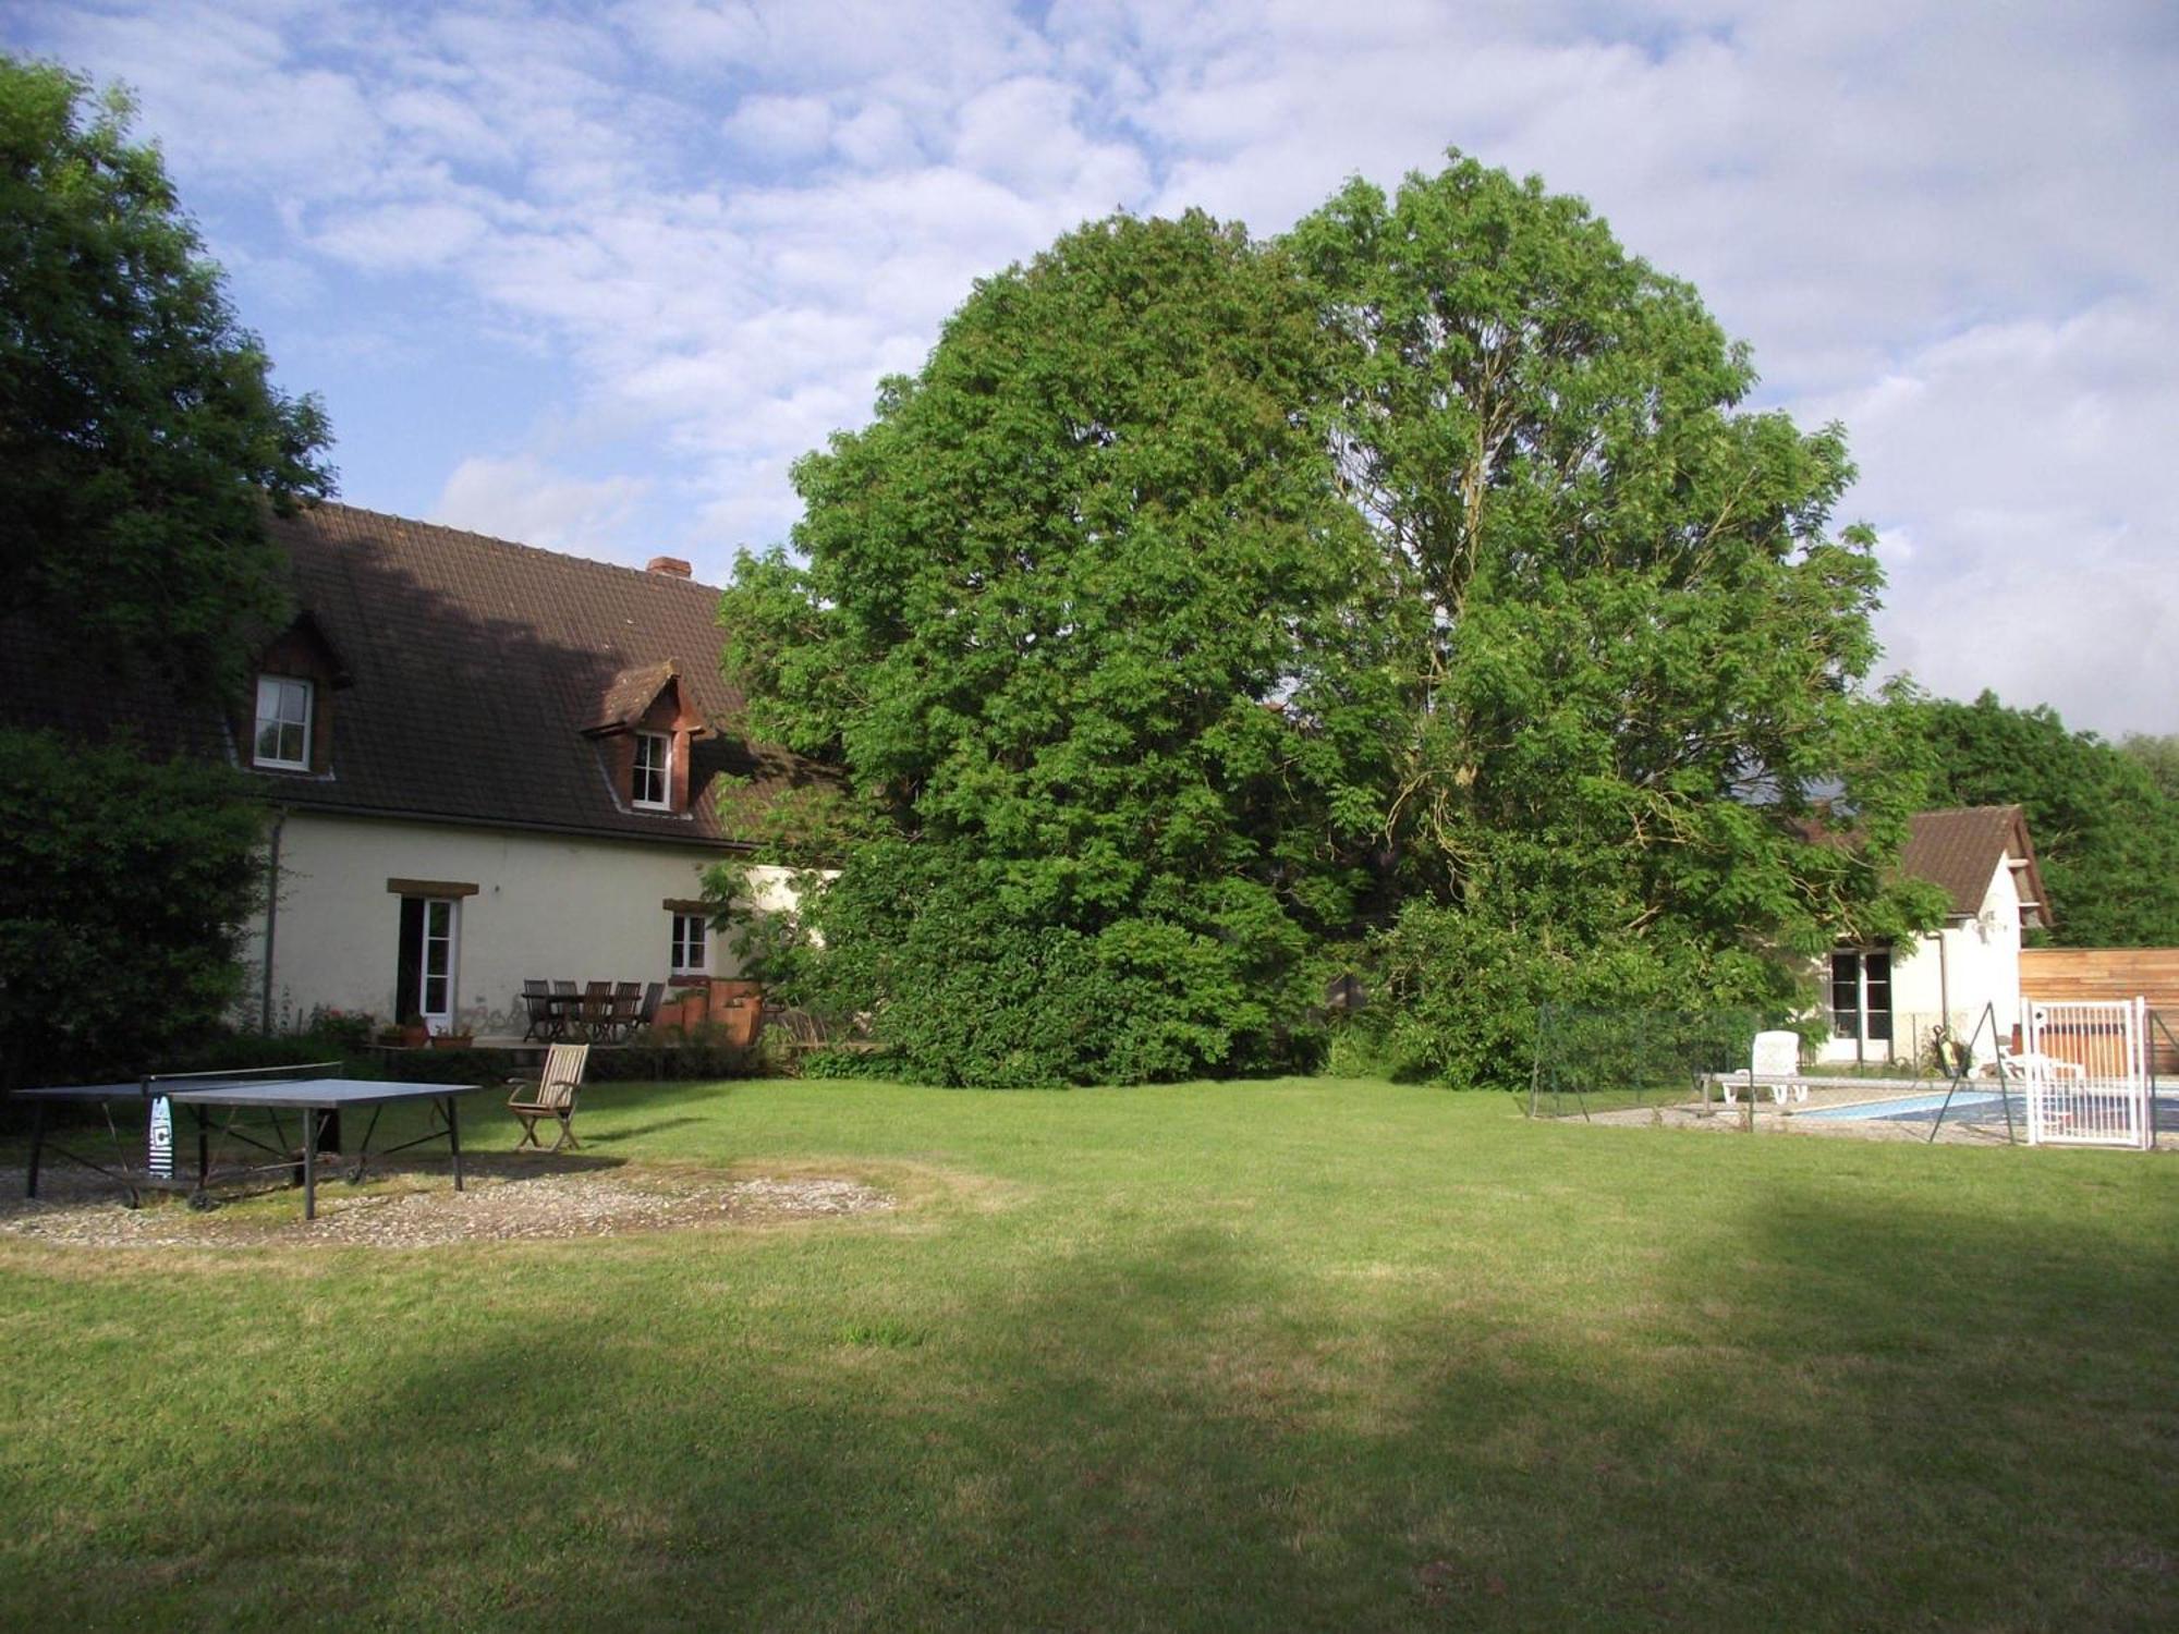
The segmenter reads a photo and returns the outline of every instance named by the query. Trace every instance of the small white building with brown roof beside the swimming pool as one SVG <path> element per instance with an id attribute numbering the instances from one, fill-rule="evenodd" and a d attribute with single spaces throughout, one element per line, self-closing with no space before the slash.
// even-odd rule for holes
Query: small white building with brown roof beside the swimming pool
<path id="1" fill-rule="evenodd" d="M 1952 1037 L 1974 1037 L 1983 1065 L 2020 1022 L 2022 935 L 2050 924 L 2026 817 L 2020 806 L 1918 813 L 1900 871 L 1946 893 L 1944 924 L 1907 943 L 1841 943 L 1830 952 L 1819 1059 L 1920 1059 L 1944 1026 Z"/>

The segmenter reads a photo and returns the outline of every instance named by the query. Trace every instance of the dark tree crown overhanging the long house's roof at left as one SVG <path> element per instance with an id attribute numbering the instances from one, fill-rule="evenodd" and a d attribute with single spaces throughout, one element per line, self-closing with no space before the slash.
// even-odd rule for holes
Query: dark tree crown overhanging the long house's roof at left
<path id="1" fill-rule="evenodd" d="M 329 492 L 327 425 L 272 386 L 129 113 L 0 57 L 0 560 L 41 623 L 209 695 L 279 617 L 261 508 Z"/>

